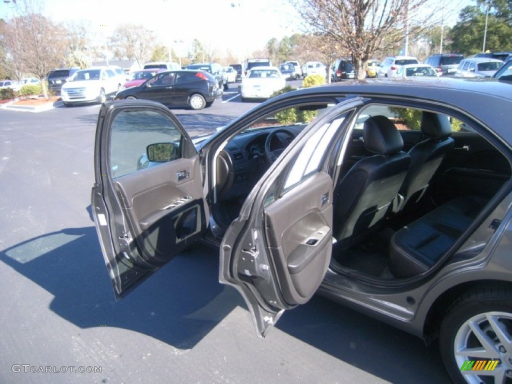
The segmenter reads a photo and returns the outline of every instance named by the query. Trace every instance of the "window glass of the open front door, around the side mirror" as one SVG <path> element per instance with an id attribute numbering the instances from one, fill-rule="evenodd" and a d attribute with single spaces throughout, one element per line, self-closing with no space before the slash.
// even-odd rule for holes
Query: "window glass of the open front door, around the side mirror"
<path id="1" fill-rule="evenodd" d="M 166 116 L 154 111 L 121 111 L 111 126 L 109 168 L 112 178 L 147 166 L 145 154 L 150 144 L 174 143 L 174 156 L 170 160 L 181 157 L 180 142 L 181 134 Z"/>

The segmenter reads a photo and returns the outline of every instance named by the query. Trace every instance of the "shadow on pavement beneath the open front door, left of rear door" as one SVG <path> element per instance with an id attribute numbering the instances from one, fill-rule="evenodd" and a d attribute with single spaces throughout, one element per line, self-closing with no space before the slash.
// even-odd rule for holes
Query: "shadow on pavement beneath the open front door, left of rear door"
<path id="1" fill-rule="evenodd" d="M 94 227 L 44 234 L 0 261 L 50 292 L 50 309 L 80 328 L 119 327 L 193 348 L 242 297 L 219 284 L 218 251 L 193 247 L 116 302 Z"/>

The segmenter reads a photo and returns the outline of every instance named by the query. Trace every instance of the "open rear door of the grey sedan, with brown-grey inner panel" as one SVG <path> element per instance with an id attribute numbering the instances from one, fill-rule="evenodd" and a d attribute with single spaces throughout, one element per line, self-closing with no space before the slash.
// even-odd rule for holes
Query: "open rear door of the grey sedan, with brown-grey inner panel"
<path id="1" fill-rule="evenodd" d="M 344 102 L 307 127 L 252 190 L 223 239 L 220 281 L 244 297 L 260 336 L 305 304 L 332 251 L 333 176 L 350 116 Z"/>

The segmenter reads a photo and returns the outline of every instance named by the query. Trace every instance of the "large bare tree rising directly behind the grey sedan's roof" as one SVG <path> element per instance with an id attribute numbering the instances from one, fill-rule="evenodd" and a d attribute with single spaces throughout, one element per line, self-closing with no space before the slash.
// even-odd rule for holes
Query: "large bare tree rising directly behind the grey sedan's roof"
<path id="1" fill-rule="evenodd" d="M 358 78 L 365 77 L 365 62 L 405 44 L 408 36 L 437 22 L 429 11 L 431 0 L 290 0 L 304 20 L 305 29 L 353 60 Z"/>

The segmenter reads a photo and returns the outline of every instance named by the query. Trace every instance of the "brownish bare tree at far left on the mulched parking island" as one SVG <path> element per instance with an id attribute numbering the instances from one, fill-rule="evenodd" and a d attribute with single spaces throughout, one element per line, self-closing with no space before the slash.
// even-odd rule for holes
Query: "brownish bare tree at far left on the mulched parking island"
<path id="1" fill-rule="evenodd" d="M 17 76 L 24 73 L 37 76 L 48 98 L 46 83 L 42 80 L 65 61 L 66 30 L 28 7 L 22 12 L 4 25 L 2 41 L 12 72 Z"/>

